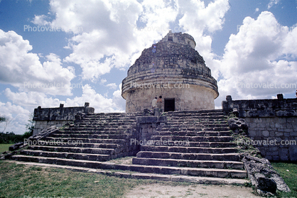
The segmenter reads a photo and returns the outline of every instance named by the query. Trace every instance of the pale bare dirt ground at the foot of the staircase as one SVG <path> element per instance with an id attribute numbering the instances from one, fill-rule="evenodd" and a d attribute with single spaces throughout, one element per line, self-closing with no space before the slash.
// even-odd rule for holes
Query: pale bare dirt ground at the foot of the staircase
<path id="1" fill-rule="evenodd" d="M 142 185 L 125 194 L 126 198 L 256 198 L 260 197 L 253 193 L 252 188 L 229 186 L 229 185 L 189 185 L 189 186 L 168 186 L 168 185 Z"/>

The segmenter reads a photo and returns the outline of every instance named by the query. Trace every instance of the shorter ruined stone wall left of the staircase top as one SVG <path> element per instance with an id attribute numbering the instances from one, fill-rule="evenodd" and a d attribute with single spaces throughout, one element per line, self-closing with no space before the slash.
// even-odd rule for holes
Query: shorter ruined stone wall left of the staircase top
<path id="1" fill-rule="evenodd" d="M 50 126 L 61 127 L 69 121 L 75 120 L 75 115 L 78 113 L 94 113 L 95 109 L 89 107 L 89 103 L 85 103 L 85 106 L 75 106 L 75 107 L 64 107 L 60 104 L 58 108 L 41 108 L 38 106 L 34 109 L 33 121 L 35 121 L 35 126 L 33 130 L 33 135 L 41 133 L 45 128 Z"/>

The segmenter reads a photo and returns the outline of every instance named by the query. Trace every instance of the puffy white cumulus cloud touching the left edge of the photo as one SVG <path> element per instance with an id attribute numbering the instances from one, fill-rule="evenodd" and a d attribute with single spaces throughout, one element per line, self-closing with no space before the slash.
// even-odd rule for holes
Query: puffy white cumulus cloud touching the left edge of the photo
<path id="1" fill-rule="evenodd" d="M 22 91 L 71 95 L 72 67 L 63 67 L 58 55 L 46 55 L 41 63 L 28 40 L 14 31 L 0 30 L 0 82 Z"/>

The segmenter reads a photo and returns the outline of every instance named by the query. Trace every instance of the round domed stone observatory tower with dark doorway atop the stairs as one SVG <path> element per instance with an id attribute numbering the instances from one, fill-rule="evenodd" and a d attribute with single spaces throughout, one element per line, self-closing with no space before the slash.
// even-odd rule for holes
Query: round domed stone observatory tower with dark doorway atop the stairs
<path id="1" fill-rule="evenodd" d="M 145 49 L 122 82 L 126 112 L 151 109 L 159 96 L 163 111 L 215 109 L 217 81 L 195 46 L 191 35 L 169 31 Z"/>

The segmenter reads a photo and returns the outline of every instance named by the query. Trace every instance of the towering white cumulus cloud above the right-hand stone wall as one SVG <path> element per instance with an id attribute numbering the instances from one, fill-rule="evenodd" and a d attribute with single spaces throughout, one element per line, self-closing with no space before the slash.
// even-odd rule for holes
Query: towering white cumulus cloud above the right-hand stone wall
<path id="1" fill-rule="evenodd" d="M 281 26 L 269 11 L 257 19 L 244 18 L 239 32 L 225 46 L 219 100 L 227 94 L 234 99 L 261 99 L 293 93 L 297 62 L 291 45 L 296 43 L 296 31 L 296 27 Z"/>

